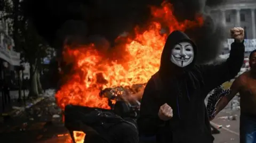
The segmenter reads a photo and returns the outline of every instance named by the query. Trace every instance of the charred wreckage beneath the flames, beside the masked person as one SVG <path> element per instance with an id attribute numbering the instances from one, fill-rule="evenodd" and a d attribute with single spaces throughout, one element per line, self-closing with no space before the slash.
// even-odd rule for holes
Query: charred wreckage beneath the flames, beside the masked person
<path id="1" fill-rule="evenodd" d="M 111 124 L 135 120 L 140 110 L 140 99 L 145 85 L 134 85 L 131 88 L 106 88 L 99 96 L 108 98 L 110 109 L 91 108 L 86 106 L 67 105 L 65 107 L 65 126 L 74 142 L 84 142 L 85 133 L 95 130 L 107 134 L 104 129 Z M 100 124 L 100 125 L 99 125 Z M 106 129 L 106 128 L 105 128 Z M 104 137 L 107 138 L 107 137 Z"/>

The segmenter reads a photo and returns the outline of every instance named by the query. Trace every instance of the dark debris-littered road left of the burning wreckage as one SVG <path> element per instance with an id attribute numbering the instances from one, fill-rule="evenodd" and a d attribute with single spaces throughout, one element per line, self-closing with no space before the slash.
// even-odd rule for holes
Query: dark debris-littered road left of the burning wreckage
<path id="1" fill-rule="evenodd" d="M 33 143 L 67 133 L 61 122 L 60 109 L 54 100 L 54 97 L 48 97 L 22 115 L 10 117 L 0 123 L 0 142 Z"/>

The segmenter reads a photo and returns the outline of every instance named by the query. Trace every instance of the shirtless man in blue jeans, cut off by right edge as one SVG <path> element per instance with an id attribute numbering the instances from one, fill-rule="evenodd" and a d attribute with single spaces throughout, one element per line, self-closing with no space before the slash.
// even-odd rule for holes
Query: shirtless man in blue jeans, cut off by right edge
<path id="1" fill-rule="evenodd" d="M 256 49 L 249 57 L 251 70 L 235 79 L 230 94 L 222 97 L 216 106 L 216 114 L 239 92 L 241 97 L 240 143 L 256 142 Z"/>

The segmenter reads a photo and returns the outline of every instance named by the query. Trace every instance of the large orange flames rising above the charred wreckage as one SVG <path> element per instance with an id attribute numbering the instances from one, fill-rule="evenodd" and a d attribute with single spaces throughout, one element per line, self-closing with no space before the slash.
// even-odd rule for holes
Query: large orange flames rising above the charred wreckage
<path id="1" fill-rule="evenodd" d="M 167 35 L 203 24 L 202 16 L 178 22 L 167 2 L 151 7 L 151 14 L 153 19 L 146 29 L 136 27 L 132 38 L 118 37 L 114 48 L 99 50 L 94 44 L 64 48 L 63 60 L 74 65 L 69 80 L 56 94 L 62 110 L 68 104 L 109 109 L 108 99 L 99 96 L 100 90 L 146 83 L 158 71 Z M 163 26 L 167 33 L 161 32 Z"/>

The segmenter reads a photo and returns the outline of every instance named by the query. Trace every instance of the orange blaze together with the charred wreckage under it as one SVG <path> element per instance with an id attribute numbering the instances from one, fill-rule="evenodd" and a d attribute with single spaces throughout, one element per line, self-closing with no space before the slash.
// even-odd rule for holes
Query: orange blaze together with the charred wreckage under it
<path id="1" fill-rule="evenodd" d="M 72 66 L 68 66 L 68 74 L 62 74 L 64 82 L 55 97 L 65 111 L 65 125 L 73 141 L 83 142 L 87 128 L 83 122 L 90 122 L 89 115 L 108 112 L 104 115 L 113 120 L 136 119 L 144 83 L 158 71 L 167 34 L 203 24 L 202 17 L 178 22 L 172 5 L 166 2 L 152 7 L 151 14 L 146 29 L 137 27 L 134 36 L 118 37 L 113 48 L 98 49 L 95 44 L 63 48 L 62 61 Z M 163 27 L 167 33 L 161 33 Z"/>

